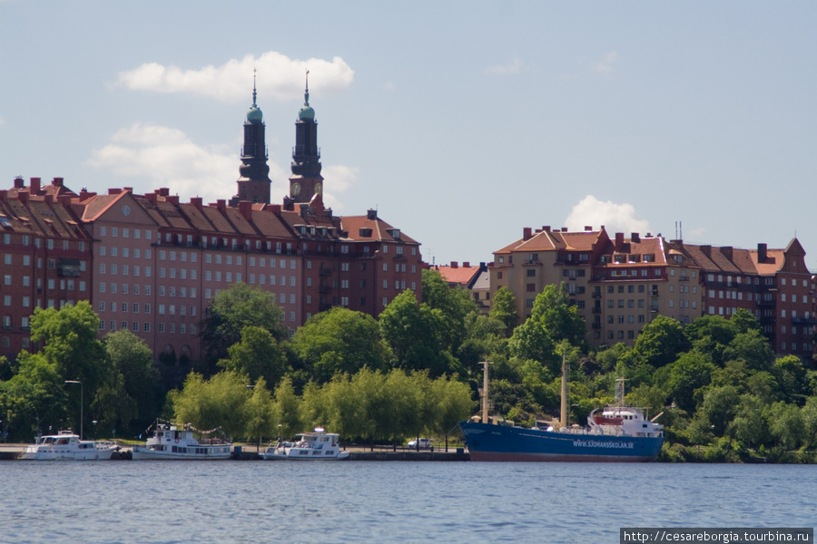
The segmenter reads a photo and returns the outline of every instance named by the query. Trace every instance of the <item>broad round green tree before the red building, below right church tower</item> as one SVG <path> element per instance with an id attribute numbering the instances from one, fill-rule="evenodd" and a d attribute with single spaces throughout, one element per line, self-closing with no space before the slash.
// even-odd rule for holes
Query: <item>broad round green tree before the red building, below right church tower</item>
<path id="1" fill-rule="evenodd" d="M 389 345 L 380 337 L 371 316 L 334 307 L 312 316 L 292 336 L 292 351 L 303 368 L 320 384 L 337 373 L 355 374 L 361 368 L 388 370 Z"/>

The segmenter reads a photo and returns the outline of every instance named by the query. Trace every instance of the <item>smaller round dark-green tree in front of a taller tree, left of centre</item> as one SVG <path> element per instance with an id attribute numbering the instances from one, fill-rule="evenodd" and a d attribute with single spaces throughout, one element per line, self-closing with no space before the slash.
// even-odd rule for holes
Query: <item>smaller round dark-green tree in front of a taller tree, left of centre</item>
<path id="1" fill-rule="evenodd" d="M 241 341 L 228 347 L 227 354 L 230 358 L 221 359 L 219 366 L 247 376 L 252 384 L 264 380 L 275 387 L 288 370 L 278 340 L 261 326 L 242 328 Z"/>

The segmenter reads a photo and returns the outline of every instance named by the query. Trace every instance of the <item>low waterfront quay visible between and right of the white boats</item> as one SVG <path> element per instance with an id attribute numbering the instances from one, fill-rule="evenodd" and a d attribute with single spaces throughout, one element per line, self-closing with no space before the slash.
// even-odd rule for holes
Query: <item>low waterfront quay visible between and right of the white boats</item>
<path id="1" fill-rule="evenodd" d="M 29 444 L 0 444 L 0 461 L 15 461 L 25 447 Z M 468 461 L 468 452 L 462 448 L 448 448 L 441 451 L 420 450 L 419 452 L 406 447 L 386 448 L 375 446 L 374 450 L 369 446 L 350 446 L 346 449 L 349 458 L 345 461 Z M 262 461 L 263 447 L 257 451 L 256 446 L 240 445 L 233 446 L 231 459 L 234 461 Z M 115 453 L 112 461 L 129 461 L 131 459 L 131 447 L 123 446 Z"/>

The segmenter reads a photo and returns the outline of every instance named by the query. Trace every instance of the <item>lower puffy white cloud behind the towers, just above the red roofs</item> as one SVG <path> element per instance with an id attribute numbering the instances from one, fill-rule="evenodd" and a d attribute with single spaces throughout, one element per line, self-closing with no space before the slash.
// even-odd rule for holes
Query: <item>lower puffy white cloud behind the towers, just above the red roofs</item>
<path id="1" fill-rule="evenodd" d="M 182 131 L 135 123 L 113 134 L 112 142 L 94 150 L 86 164 L 111 170 L 115 176 L 142 178 L 134 183 L 137 192 L 168 187 L 182 200 L 200 196 L 213 201 L 234 194 L 241 161 L 232 146 L 202 147 Z M 275 165 L 270 166 L 272 180 L 284 177 L 281 171 L 273 171 L 280 170 Z"/>

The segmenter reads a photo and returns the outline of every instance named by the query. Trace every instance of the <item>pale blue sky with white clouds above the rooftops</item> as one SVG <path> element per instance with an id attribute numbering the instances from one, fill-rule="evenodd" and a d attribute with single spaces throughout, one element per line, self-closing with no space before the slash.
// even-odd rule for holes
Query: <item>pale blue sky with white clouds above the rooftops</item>
<path id="1" fill-rule="evenodd" d="M 815 24 L 795 1 L 0 0 L 0 188 L 230 199 L 255 70 L 280 203 L 309 70 L 325 201 L 429 263 L 605 225 L 796 236 L 817 271 Z"/>

